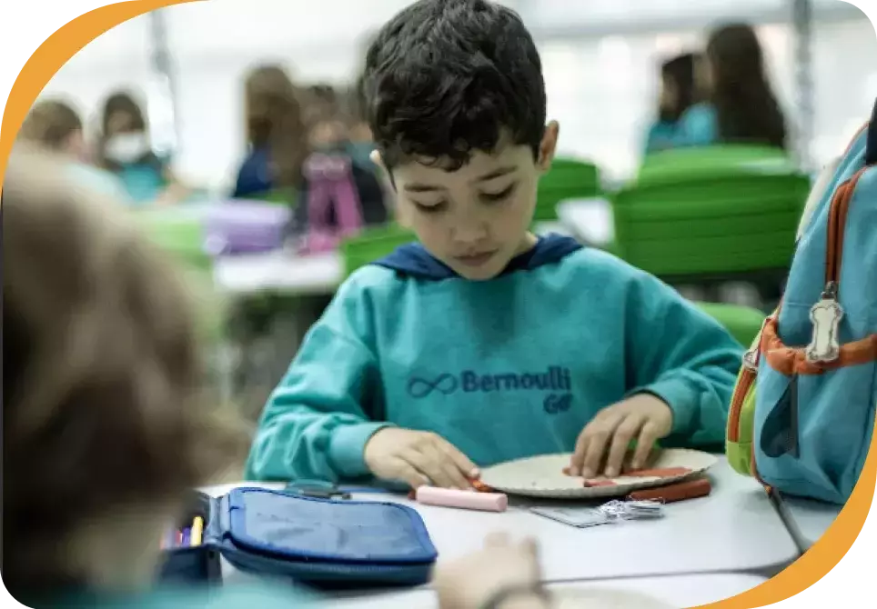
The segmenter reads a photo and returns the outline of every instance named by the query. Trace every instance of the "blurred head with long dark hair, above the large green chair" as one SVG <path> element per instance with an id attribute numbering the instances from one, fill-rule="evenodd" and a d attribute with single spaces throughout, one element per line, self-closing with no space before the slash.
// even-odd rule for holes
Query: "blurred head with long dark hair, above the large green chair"
<path id="1" fill-rule="evenodd" d="M 697 76 L 716 109 L 723 142 L 785 147 L 785 121 L 768 81 L 758 35 L 750 25 L 715 30 Z"/>

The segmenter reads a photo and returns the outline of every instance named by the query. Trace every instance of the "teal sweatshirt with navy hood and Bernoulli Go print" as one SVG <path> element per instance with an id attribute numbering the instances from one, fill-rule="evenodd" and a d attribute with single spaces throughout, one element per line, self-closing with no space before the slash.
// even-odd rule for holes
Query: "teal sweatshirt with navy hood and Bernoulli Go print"
<path id="1" fill-rule="evenodd" d="M 405 245 L 341 285 L 269 398 L 248 479 L 368 475 L 398 425 L 479 466 L 570 452 L 632 394 L 673 411 L 665 445 L 721 444 L 742 347 L 668 285 L 549 235 L 499 277 L 468 281 Z"/>

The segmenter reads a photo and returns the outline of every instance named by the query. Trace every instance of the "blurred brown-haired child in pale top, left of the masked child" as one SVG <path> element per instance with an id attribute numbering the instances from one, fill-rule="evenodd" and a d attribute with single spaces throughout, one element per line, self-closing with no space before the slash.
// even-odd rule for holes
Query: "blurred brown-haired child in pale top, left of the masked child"
<path id="1" fill-rule="evenodd" d="M 58 100 L 37 102 L 25 118 L 19 137 L 62 155 L 67 174 L 76 184 L 96 189 L 120 203 L 134 204 L 116 175 L 90 163 L 82 120 L 70 105 Z"/>

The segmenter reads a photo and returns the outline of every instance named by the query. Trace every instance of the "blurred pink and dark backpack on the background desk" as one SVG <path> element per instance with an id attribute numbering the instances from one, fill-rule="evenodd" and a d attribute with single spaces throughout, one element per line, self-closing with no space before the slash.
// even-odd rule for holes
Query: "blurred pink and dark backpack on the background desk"
<path id="1" fill-rule="evenodd" d="M 366 225 L 386 221 L 387 209 L 378 177 L 346 155 L 315 153 L 304 166 L 294 231 L 302 254 L 338 248 Z"/>

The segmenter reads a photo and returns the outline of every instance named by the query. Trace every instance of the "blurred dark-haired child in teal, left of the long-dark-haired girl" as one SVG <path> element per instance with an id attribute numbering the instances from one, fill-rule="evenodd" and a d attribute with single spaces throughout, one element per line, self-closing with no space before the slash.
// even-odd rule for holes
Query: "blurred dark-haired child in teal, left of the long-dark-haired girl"
<path id="1" fill-rule="evenodd" d="M 687 53 L 660 66 L 658 120 L 646 137 L 646 154 L 672 147 L 680 116 L 695 102 L 694 63 L 695 56 Z"/>

